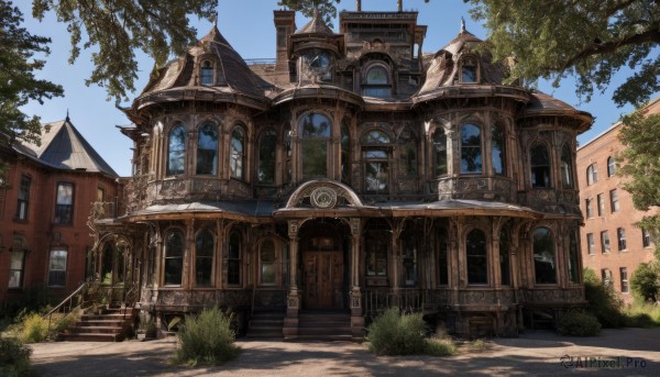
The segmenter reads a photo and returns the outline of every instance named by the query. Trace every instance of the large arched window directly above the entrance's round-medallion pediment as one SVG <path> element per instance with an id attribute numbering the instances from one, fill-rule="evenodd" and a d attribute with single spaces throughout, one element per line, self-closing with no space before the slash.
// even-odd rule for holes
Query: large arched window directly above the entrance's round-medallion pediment
<path id="1" fill-rule="evenodd" d="M 310 112 L 298 122 L 301 137 L 302 178 L 328 176 L 328 149 L 332 121 L 321 113 Z"/>

